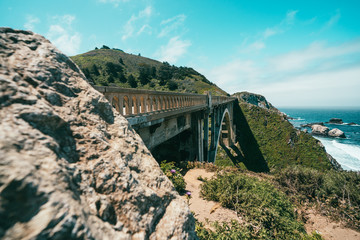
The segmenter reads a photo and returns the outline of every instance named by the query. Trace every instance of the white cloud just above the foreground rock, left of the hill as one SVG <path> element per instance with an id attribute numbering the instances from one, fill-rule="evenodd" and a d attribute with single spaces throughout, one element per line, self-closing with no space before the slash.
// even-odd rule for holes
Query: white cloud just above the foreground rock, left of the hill
<path id="1" fill-rule="evenodd" d="M 52 19 L 54 24 L 50 25 L 46 34 L 46 37 L 67 55 L 77 54 L 81 45 L 80 33 L 72 29 L 74 20 L 73 15 L 55 16 Z"/>

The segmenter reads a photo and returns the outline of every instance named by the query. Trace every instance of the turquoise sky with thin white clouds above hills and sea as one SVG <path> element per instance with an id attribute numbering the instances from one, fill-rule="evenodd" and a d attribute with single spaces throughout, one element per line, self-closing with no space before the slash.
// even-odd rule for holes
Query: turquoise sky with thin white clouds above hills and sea
<path id="1" fill-rule="evenodd" d="M 69 56 L 107 45 L 276 107 L 360 108 L 360 1 L 1 0 L 0 26 Z"/>

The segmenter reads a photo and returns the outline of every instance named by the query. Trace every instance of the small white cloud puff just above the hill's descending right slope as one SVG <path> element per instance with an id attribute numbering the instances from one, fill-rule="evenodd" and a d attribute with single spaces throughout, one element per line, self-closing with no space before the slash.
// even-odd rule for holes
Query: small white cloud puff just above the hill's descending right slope
<path id="1" fill-rule="evenodd" d="M 189 40 L 181 40 L 179 36 L 176 36 L 171 38 L 167 45 L 161 46 L 155 55 L 160 57 L 160 61 L 174 64 L 187 52 L 190 46 L 191 42 Z"/>

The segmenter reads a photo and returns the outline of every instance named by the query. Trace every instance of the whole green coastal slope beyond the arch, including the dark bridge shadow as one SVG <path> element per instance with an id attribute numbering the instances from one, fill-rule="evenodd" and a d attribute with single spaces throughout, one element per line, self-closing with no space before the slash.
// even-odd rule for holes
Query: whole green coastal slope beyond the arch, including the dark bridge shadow
<path id="1" fill-rule="evenodd" d="M 245 100 L 239 98 L 239 94 L 235 96 L 239 99 L 239 106 L 234 107 L 235 148 L 238 150 L 233 151 L 233 146 L 228 151 L 231 154 L 226 155 L 219 147 L 217 165 L 235 164 L 255 172 L 281 170 L 294 165 L 317 170 L 336 168 L 317 139 L 295 129 L 263 96 L 245 93 Z"/>

